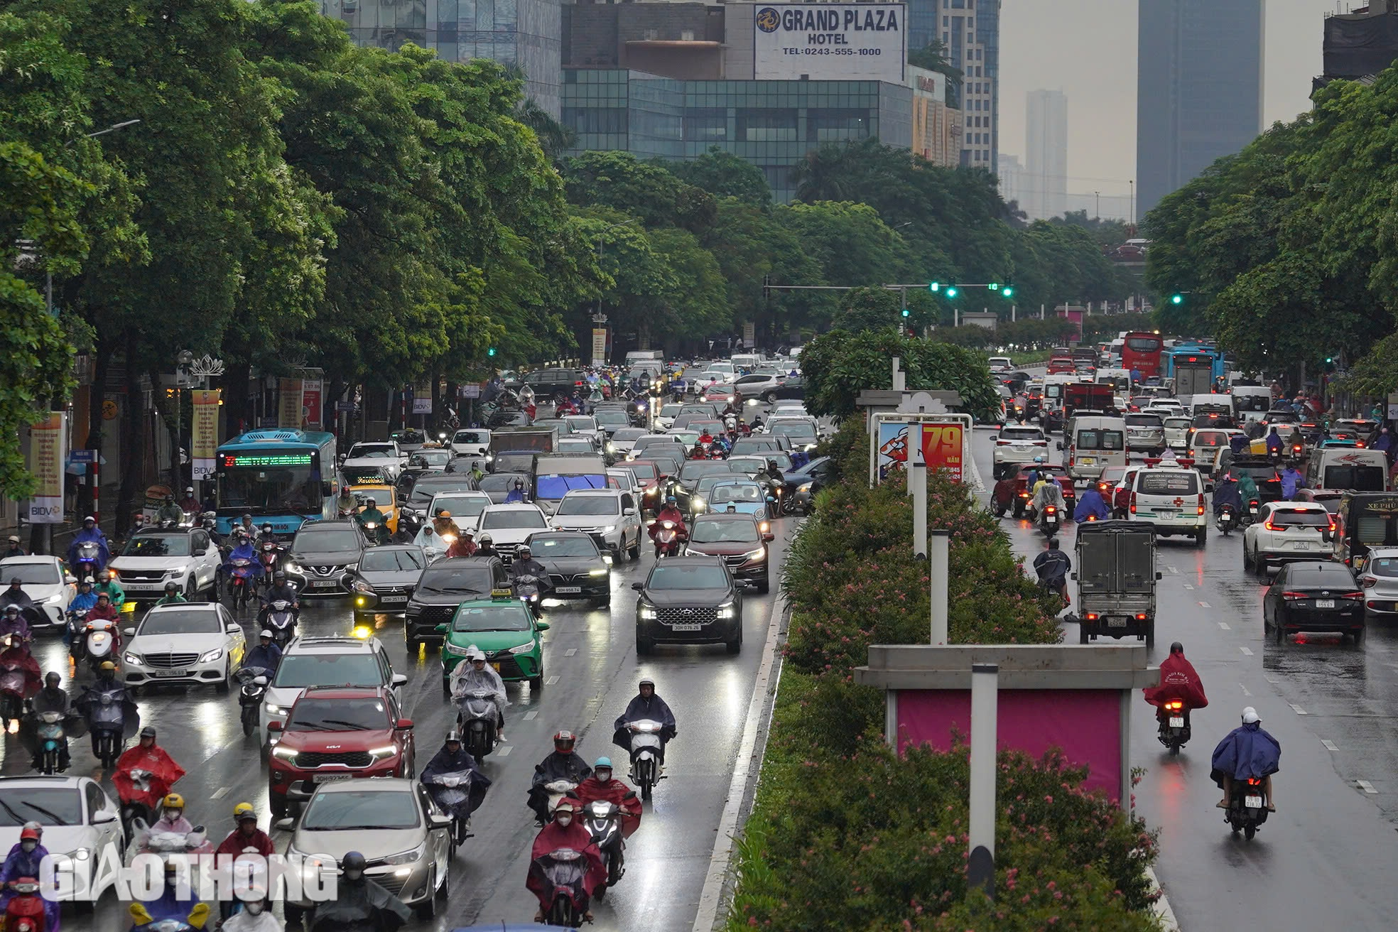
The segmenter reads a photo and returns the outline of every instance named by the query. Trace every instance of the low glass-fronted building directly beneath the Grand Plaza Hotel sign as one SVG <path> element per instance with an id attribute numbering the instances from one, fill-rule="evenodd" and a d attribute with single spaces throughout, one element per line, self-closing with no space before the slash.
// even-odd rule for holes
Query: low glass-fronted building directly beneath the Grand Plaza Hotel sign
<path id="1" fill-rule="evenodd" d="M 910 148 L 911 95 L 884 81 L 679 81 L 570 68 L 562 102 L 572 154 L 692 159 L 717 145 L 761 168 L 784 204 L 795 196 L 791 166 L 822 143 L 874 137 Z"/>

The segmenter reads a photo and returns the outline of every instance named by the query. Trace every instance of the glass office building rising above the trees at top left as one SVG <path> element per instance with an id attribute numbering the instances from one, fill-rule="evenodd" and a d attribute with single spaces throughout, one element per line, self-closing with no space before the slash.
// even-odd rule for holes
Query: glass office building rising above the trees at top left
<path id="1" fill-rule="evenodd" d="M 558 116 L 562 78 L 559 0 L 320 0 L 359 45 L 397 50 L 405 42 L 447 61 L 491 59 L 524 73 L 524 94 Z"/>

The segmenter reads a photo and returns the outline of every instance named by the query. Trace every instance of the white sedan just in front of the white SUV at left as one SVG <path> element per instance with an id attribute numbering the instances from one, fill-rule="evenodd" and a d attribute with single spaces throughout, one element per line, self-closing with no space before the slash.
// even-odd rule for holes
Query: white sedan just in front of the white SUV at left
<path id="1" fill-rule="evenodd" d="M 212 683 L 228 692 L 229 673 L 243 661 L 243 629 L 218 602 L 157 605 L 136 627 L 122 629 L 126 685 Z"/>

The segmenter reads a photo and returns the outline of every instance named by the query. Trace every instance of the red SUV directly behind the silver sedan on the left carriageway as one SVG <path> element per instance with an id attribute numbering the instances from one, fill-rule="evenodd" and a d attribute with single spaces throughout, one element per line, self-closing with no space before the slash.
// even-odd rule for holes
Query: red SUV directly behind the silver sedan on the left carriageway
<path id="1" fill-rule="evenodd" d="M 306 689 L 285 722 L 268 722 L 273 816 L 287 815 L 287 791 L 299 781 L 411 777 L 412 721 L 401 715 L 393 690 L 382 686 Z"/>

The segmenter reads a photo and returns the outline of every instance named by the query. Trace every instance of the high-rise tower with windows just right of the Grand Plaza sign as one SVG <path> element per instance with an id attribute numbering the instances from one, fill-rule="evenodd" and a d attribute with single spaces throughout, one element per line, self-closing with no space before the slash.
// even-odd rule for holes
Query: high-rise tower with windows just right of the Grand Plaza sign
<path id="1" fill-rule="evenodd" d="M 907 0 L 907 52 L 941 42 L 965 74 L 960 163 L 998 172 L 1000 0 Z"/>

